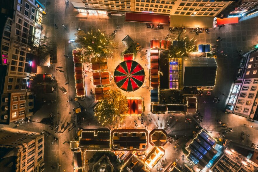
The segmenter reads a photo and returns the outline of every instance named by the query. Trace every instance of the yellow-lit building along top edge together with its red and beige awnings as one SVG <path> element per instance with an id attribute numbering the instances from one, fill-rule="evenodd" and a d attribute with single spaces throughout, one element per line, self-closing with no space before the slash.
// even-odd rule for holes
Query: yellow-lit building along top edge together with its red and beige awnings
<path id="1" fill-rule="evenodd" d="M 170 16 L 170 27 L 207 27 L 211 28 L 213 19 L 232 1 L 213 0 L 71 0 L 80 13 L 111 14 L 119 13 L 125 17 L 134 14 L 128 21 L 155 23 L 162 18 L 154 14 Z M 149 14 L 149 16 L 146 16 Z M 133 18 L 133 19 L 132 19 Z M 167 19 L 168 20 L 168 19 Z M 168 24 L 164 23 L 164 24 Z"/>

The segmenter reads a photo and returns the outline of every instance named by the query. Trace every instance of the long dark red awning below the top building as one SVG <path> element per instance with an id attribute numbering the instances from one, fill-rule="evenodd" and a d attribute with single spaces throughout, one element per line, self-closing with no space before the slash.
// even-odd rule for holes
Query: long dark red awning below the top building
<path id="1" fill-rule="evenodd" d="M 169 24 L 169 16 L 143 13 L 125 13 L 125 21 Z"/>

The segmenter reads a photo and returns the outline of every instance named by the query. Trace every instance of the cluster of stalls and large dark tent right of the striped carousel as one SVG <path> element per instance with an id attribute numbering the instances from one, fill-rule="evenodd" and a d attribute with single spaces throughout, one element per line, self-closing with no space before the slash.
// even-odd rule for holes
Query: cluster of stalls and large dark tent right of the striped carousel
<path id="1" fill-rule="evenodd" d="M 188 57 L 182 59 L 167 57 L 166 51 L 169 49 L 169 46 L 176 44 L 178 44 L 178 41 L 175 40 L 172 42 L 167 40 L 150 40 L 150 96 L 152 113 L 195 113 L 197 111 L 197 99 L 195 97 L 184 97 L 183 92 L 180 96 L 172 95 L 170 90 L 181 92 L 183 87 L 209 89 L 215 85 L 217 74 L 215 58 Z M 207 56 L 207 53 L 211 52 L 210 44 L 199 44 L 193 48 L 195 48 L 193 54 L 206 53 Z M 163 96 L 164 94 L 165 96 Z M 171 94 L 171 96 L 166 96 L 168 94 Z M 175 101 L 178 101 L 178 103 L 174 103 Z"/>

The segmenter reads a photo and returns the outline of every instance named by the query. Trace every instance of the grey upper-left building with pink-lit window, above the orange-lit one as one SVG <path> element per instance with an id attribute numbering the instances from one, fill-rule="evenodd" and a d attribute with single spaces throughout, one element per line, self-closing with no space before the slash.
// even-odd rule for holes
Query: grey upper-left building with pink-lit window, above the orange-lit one
<path id="1" fill-rule="evenodd" d="M 37 72 L 37 64 L 22 43 L 40 37 L 43 10 L 37 0 L 11 0 L 10 14 L 2 25 L 1 64 L 7 65 L 4 93 L 25 92 L 28 77 Z M 5 14 L 2 14 L 4 16 Z M 35 68 L 33 68 L 35 66 Z M 36 71 L 35 71 L 36 70 Z"/>

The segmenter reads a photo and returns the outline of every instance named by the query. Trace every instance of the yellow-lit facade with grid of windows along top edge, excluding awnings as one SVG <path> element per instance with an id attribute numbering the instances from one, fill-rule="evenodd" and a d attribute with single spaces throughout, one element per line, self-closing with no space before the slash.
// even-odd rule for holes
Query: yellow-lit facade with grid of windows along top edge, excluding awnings
<path id="1" fill-rule="evenodd" d="M 217 16 L 232 1 L 205 0 L 71 0 L 81 13 L 156 13 L 180 16 Z"/>

